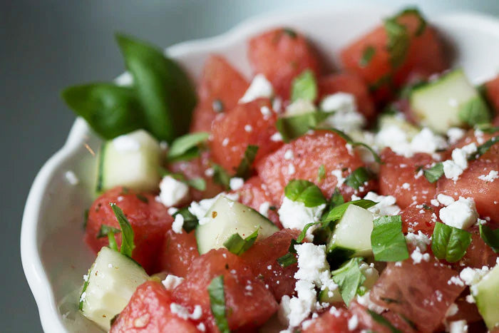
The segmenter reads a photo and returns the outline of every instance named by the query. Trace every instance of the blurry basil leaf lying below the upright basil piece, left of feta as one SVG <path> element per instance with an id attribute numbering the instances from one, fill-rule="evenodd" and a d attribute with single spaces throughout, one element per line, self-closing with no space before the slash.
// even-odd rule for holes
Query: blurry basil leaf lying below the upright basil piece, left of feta
<path id="1" fill-rule="evenodd" d="M 316 128 L 328 116 L 329 113 L 313 111 L 298 116 L 281 117 L 277 119 L 275 125 L 282 135 L 282 140 L 289 142 Z"/>

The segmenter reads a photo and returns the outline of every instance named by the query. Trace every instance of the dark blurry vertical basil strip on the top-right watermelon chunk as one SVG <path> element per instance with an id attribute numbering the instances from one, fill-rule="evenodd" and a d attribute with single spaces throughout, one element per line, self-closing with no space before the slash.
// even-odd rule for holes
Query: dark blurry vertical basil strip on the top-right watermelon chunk
<path id="1" fill-rule="evenodd" d="M 390 63 L 392 68 L 402 66 L 406 61 L 409 48 L 409 35 L 406 26 L 399 24 L 396 18 L 386 19 L 384 21 L 386 36 L 388 36 L 388 51 L 390 54 Z"/>

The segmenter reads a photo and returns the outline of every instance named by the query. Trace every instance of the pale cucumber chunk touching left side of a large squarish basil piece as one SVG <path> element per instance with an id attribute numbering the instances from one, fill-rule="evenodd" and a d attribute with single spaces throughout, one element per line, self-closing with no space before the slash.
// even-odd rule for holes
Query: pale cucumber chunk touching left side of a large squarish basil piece
<path id="1" fill-rule="evenodd" d="M 334 227 L 329 239 L 328 250 L 341 247 L 351 250 L 356 256 L 372 255 L 371 232 L 374 215 L 369 210 L 349 205 L 343 217 Z"/>

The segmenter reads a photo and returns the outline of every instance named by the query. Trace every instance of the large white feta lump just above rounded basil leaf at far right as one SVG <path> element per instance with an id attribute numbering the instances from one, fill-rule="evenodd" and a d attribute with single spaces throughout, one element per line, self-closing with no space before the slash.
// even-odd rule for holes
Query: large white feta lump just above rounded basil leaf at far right
<path id="1" fill-rule="evenodd" d="M 446 225 L 459 229 L 468 229 L 475 224 L 478 218 L 475 200 L 459 197 L 459 200 L 440 210 L 440 219 Z"/>

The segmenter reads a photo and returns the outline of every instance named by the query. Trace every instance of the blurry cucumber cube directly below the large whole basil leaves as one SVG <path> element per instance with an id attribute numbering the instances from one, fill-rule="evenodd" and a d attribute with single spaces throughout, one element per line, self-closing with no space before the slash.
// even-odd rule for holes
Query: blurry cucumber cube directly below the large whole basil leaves
<path id="1" fill-rule="evenodd" d="M 99 152 L 97 192 L 115 186 L 155 190 L 160 182 L 161 149 L 145 130 L 106 141 Z"/>

